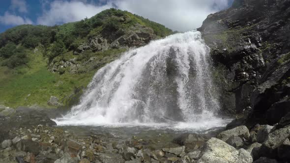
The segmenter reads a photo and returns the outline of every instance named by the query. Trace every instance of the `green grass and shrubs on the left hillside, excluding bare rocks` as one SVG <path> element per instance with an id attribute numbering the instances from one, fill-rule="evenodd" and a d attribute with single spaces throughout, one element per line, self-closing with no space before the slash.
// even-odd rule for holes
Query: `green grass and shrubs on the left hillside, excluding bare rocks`
<path id="1" fill-rule="evenodd" d="M 25 38 L 34 38 L 37 44 L 42 44 L 38 49 L 46 47 L 46 53 L 41 51 L 33 52 L 34 47 L 26 47 L 29 62 L 26 65 L 15 68 L 0 66 L 0 105 L 16 108 L 18 106 L 40 106 L 49 107 L 47 101 L 50 96 L 56 96 L 60 102 L 67 104 L 67 97 L 71 95 L 77 87 L 86 87 L 97 69 L 105 64 L 115 60 L 124 49 L 108 50 L 105 52 L 86 52 L 83 55 L 73 55 L 73 49 L 69 47 L 78 47 L 89 37 L 98 35 L 104 29 L 112 16 L 129 17 L 127 24 L 120 24 L 120 28 L 129 28 L 140 24 L 145 27 L 151 27 L 158 37 L 164 37 L 172 34 L 172 30 L 163 25 L 151 22 L 148 19 L 134 15 L 127 11 L 116 9 L 105 10 L 96 16 L 80 22 L 68 23 L 62 26 L 45 27 L 22 25 L 13 27 L 0 34 L 0 48 L 7 42 L 13 42 L 15 45 L 24 45 Z M 100 23 L 95 26 L 95 24 Z M 87 28 L 86 28 L 87 27 Z M 86 30 L 84 30 L 86 29 Z M 88 31 L 88 32 L 87 32 Z M 87 33 L 81 36 L 82 33 Z M 55 35 L 53 34 L 55 33 Z M 92 71 L 79 70 L 78 74 L 69 74 L 65 72 L 60 75 L 48 71 L 48 54 L 50 54 L 51 45 L 55 41 L 62 41 L 66 44 L 64 53 L 55 56 L 57 60 L 69 60 L 77 57 L 80 62 L 88 60 L 90 57 L 97 58 L 97 65 Z M 75 45 L 74 45 L 75 44 Z M 42 48 L 41 48 L 42 47 Z M 0 65 L 4 58 L 0 57 Z"/>

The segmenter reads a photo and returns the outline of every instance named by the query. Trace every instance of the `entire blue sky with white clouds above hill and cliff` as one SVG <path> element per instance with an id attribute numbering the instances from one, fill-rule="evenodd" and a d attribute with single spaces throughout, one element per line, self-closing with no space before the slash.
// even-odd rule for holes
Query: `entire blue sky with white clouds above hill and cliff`
<path id="1" fill-rule="evenodd" d="M 1 0 L 0 32 L 22 24 L 53 26 L 79 21 L 107 8 L 141 15 L 178 31 L 202 25 L 210 13 L 233 0 Z"/>

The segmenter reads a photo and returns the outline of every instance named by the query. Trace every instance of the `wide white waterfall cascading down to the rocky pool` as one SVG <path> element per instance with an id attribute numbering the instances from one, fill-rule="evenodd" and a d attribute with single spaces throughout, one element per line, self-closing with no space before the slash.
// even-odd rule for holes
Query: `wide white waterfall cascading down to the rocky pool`
<path id="1" fill-rule="evenodd" d="M 188 31 L 129 50 L 101 68 L 79 105 L 58 125 L 216 127 L 223 120 L 213 85 L 209 48 Z"/>

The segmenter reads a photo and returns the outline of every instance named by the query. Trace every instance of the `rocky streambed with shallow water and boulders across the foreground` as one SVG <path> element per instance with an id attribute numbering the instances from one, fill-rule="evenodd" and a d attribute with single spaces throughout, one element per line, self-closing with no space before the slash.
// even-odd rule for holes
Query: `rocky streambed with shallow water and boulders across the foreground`
<path id="1" fill-rule="evenodd" d="M 257 124 L 253 128 L 233 128 L 236 124 L 233 121 L 227 128 L 207 134 L 144 129 L 124 135 L 128 131 L 110 133 L 101 128 L 56 126 L 50 118 L 60 113 L 19 108 L 8 115 L 1 114 L 0 163 L 252 163 L 253 160 L 284 163 L 290 160 L 290 126 Z"/>

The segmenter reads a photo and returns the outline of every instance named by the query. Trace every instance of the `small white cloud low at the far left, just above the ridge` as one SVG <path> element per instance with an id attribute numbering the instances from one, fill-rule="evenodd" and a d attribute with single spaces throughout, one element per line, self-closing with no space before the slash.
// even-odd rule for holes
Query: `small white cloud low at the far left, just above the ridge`
<path id="1" fill-rule="evenodd" d="M 0 16 L 0 23 L 4 25 L 23 25 L 32 24 L 32 21 L 28 18 L 22 18 L 21 16 L 5 12 L 3 16 Z"/>

